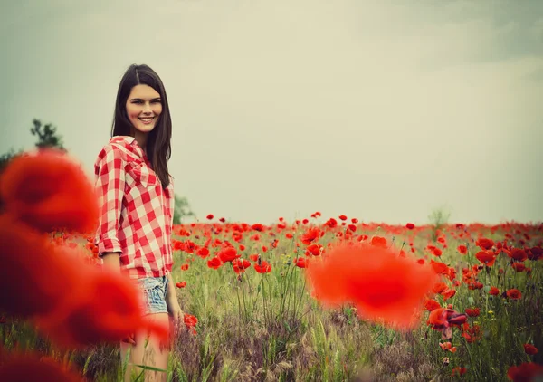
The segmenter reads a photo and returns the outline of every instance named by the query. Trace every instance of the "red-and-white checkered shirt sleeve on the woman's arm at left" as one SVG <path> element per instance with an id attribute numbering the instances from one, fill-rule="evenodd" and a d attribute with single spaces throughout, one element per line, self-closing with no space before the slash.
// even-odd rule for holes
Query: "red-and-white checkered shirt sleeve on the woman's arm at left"
<path id="1" fill-rule="evenodd" d="M 97 232 L 98 252 L 122 252 L 119 224 L 125 188 L 125 160 L 119 148 L 102 150 L 95 167 L 95 189 L 100 198 L 100 221 Z"/>

